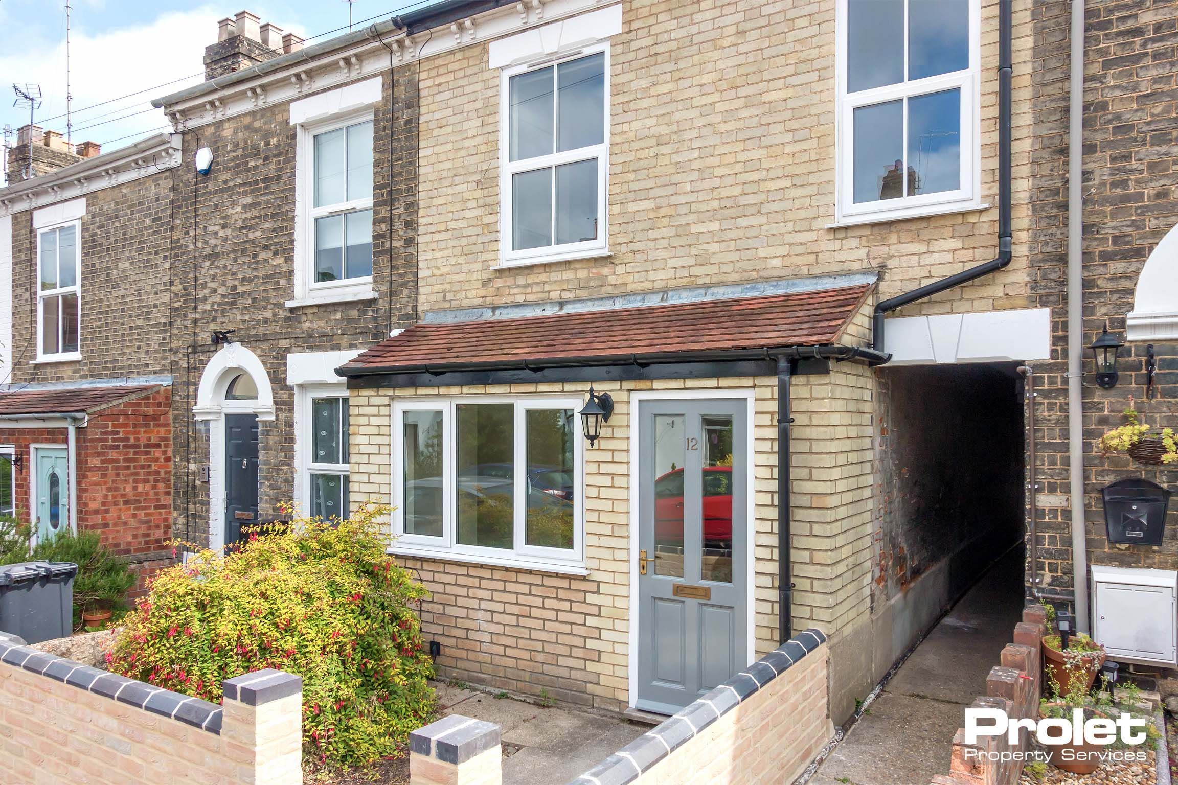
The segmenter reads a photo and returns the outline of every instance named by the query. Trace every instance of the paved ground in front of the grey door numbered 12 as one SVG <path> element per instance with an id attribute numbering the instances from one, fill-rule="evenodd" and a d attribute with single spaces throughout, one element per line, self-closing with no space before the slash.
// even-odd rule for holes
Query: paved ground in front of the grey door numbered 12
<path id="1" fill-rule="evenodd" d="M 443 714 L 462 714 L 503 729 L 504 785 L 565 785 L 638 738 L 648 725 L 495 698 L 436 684 Z"/>

